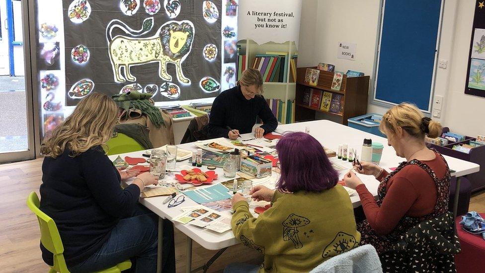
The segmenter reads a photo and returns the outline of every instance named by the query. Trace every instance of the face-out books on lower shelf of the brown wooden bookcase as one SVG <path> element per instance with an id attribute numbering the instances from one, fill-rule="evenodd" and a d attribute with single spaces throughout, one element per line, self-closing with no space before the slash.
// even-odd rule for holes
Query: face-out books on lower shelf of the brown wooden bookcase
<path id="1" fill-rule="evenodd" d="M 313 88 L 303 91 L 302 103 L 322 111 L 341 114 L 343 113 L 343 95 Z"/>

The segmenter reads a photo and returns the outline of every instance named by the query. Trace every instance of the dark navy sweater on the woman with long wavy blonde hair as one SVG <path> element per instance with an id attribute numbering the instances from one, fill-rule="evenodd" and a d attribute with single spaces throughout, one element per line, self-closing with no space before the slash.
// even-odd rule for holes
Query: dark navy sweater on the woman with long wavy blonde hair
<path id="1" fill-rule="evenodd" d="M 121 177 L 101 146 L 79 156 L 69 149 L 42 164 L 40 209 L 57 225 L 68 267 L 98 251 L 119 219 L 133 211 L 140 188 L 120 187 Z M 42 258 L 53 265 L 53 255 L 41 244 Z"/>

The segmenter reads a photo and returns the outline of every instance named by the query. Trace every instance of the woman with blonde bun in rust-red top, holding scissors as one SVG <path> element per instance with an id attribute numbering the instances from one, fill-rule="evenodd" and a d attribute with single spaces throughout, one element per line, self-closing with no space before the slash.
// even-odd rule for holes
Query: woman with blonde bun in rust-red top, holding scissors
<path id="1" fill-rule="evenodd" d="M 406 161 L 391 174 L 368 162 L 362 162 L 362 170 L 354 167 L 381 182 L 377 201 L 352 171 L 344 178 L 347 186 L 357 190 L 366 216 L 357 226 L 361 244 L 373 245 L 380 256 L 410 228 L 447 211 L 450 171 L 445 159 L 424 142 L 426 136 L 436 138 L 441 129 L 439 122 L 423 117 L 413 104 L 392 107 L 383 116 L 380 130 L 396 155 Z"/>

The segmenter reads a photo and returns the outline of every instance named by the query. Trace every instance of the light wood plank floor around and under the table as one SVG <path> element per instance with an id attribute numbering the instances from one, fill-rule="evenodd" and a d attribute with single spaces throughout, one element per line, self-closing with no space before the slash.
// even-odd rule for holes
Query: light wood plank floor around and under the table
<path id="1" fill-rule="evenodd" d="M 48 272 L 39 249 L 39 226 L 27 208 L 26 198 L 32 191 L 39 194 L 42 159 L 0 165 L 0 272 Z M 470 210 L 485 211 L 485 191 L 472 196 Z M 185 271 L 186 237 L 175 232 L 177 272 Z M 193 243 L 192 266 L 207 262 L 216 251 L 208 251 Z M 229 248 L 209 272 L 222 272 L 233 262 L 258 264 L 262 257 L 242 245 Z"/>

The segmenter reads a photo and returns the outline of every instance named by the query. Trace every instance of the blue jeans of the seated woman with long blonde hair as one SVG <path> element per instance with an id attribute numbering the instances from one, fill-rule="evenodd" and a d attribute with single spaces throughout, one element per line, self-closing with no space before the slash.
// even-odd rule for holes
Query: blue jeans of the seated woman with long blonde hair
<path id="1" fill-rule="evenodd" d="M 111 230 L 108 240 L 84 262 L 70 272 L 94 272 L 115 266 L 131 258 L 132 271 L 157 272 L 158 219 L 152 211 L 137 204 L 135 211 L 121 219 Z M 175 272 L 173 225 L 163 220 L 162 272 Z"/>

